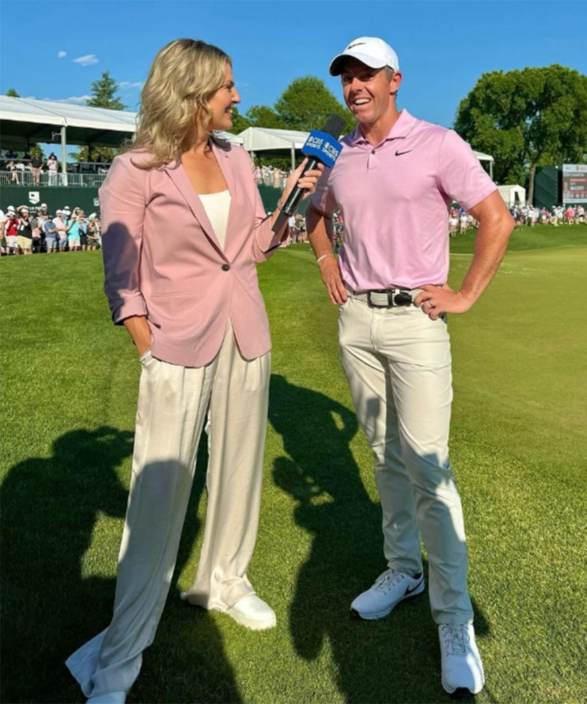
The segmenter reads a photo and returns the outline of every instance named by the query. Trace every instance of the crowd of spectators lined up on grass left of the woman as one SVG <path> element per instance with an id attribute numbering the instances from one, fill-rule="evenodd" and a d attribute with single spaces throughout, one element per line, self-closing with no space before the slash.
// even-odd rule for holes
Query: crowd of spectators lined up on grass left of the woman
<path id="1" fill-rule="evenodd" d="M 39 208 L 8 206 L 0 210 L 0 256 L 54 252 L 91 251 L 101 246 L 101 225 L 97 213 L 68 206 L 49 213 L 46 203 Z"/>

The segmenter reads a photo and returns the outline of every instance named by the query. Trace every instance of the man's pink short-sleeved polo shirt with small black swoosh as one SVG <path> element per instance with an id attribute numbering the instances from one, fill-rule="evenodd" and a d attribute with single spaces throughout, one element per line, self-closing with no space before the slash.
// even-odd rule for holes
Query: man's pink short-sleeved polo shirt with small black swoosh
<path id="1" fill-rule="evenodd" d="M 359 127 L 342 143 L 312 203 L 341 210 L 344 282 L 354 291 L 445 283 L 450 203 L 469 210 L 496 190 L 471 147 L 405 110 L 377 146 Z"/>

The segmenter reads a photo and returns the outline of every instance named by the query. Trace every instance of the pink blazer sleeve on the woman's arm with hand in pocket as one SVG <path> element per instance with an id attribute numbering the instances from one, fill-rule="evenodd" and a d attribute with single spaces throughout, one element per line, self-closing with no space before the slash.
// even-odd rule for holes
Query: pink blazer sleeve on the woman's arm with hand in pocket
<path id="1" fill-rule="evenodd" d="M 147 312 L 139 288 L 146 208 L 141 184 L 146 172 L 132 165 L 130 160 L 128 153 L 115 158 L 99 191 L 104 292 L 116 325 L 132 315 Z"/>

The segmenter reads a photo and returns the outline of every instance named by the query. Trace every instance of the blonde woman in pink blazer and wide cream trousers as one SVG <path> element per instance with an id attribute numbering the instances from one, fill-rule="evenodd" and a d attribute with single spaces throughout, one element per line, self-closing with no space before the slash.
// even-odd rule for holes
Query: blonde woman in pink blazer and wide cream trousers
<path id="1" fill-rule="evenodd" d="M 155 58 L 134 146 L 100 189 L 105 290 L 141 381 L 113 620 L 68 660 L 93 704 L 124 702 L 158 625 L 208 415 L 208 509 L 184 595 L 247 627 L 274 626 L 246 577 L 255 543 L 270 337 L 255 262 L 279 246 L 246 152 L 211 132 L 239 102 L 230 58 L 179 39 Z M 319 170 L 289 179 L 311 193 Z M 299 181 L 298 181 L 299 179 Z M 173 227 L 170 227 L 173 223 Z M 278 233 L 283 235 L 284 233 Z"/>

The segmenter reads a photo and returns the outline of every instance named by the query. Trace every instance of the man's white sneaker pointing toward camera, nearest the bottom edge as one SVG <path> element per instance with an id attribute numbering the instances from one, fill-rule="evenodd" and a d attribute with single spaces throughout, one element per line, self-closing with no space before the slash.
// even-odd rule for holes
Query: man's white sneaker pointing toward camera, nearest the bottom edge
<path id="1" fill-rule="evenodd" d="M 441 641 L 442 686 L 449 694 L 458 690 L 478 694 L 485 684 L 483 663 L 470 623 L 438 626 Z"/>

